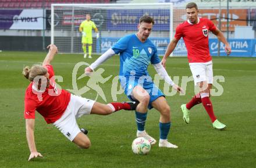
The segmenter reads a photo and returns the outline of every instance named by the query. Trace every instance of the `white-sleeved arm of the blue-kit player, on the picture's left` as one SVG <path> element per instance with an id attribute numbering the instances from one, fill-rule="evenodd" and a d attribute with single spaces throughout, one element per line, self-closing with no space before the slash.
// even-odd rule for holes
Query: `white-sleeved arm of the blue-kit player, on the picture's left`
<path id="1" fill-rule="evenodd" d="M 103 53 L 97 60 L 95 60 L 94 63 L 92 63 L 90 66 L 86 67 L 84 69 L 84 72 L 86 74 L 89 74 L 90 72 L 93 72 L 94 69 L 96 69 L 99 65 L 104 63 L 107 59 L 111 58 L 113 55 L 115 55 L 115 51 L 113 51 L 112 48 L 108 49 L 105 53 Z"/>

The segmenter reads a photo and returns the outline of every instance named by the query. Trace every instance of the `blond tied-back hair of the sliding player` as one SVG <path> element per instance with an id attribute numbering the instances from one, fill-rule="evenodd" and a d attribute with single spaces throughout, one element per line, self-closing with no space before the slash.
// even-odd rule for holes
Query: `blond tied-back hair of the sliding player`
<path id="1" fill-rule="evenodd" d="M 33 81 L 37 76 L 45 76 L 45 74 L 47 74 L 47 69 L 41 65 L 33 65 L 31 68 L 26 66 L 23 68 L 22 73 L 28 80 Z"/>

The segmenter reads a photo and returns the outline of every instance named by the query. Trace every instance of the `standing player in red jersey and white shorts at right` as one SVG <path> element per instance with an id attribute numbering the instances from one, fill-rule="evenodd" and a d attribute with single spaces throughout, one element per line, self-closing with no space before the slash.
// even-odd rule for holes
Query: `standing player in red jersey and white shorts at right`
<path id="1" fill-rule="evenodd" d="M 209 99 L 212 88 L 213 72 L 212 58 L 209 53 L 208 32 L 211 31 L 218 37 L 219 41 L 225 44 L 225 52 L 229 55 L 231 48 L 222 32 L 214 26 L 211 20 L 198 18 L 197 4 L 194 2 L 186 5 L 187 21 L 179 24 L 176 28 L 175 37 L 169 43 L 162 59 L 165 67 L 166 59 L 175 49 L 177 42 L 183 37 L 187 48 L 187 58 L 192 72 L 194 83 L 200 87 L 200 93 L 195 95 L 190 102 L 181 106 L 184 121 L 189 124 L 190 109 L 202 103 L 212 121 L 212 126 L 218 130 L 226 128 L 225 124 L 218 121 L 214 115 L 212 102 Z"/>

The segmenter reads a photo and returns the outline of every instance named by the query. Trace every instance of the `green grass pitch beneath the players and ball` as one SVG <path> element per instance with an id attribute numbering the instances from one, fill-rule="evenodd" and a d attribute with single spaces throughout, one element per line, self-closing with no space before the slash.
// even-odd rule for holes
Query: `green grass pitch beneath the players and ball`
<path id="1" fill-rule="evenodd" d="M 88 129 L 92 142 L 90 149 L 79 149 L 68 141 L 54 126 L 46 124 L 36 115 L 35 141 L 38 152 L 44 158 L 27 162 L 29 148 L 26 141 L 23 118 L 24 91 L 29 81 L 22 76 L 24 65 L 42 62 L 45 52 L 1 52 L 0 53 L 0 167 L 256 167 L 256 59 L 214 58 L 214 75 L 224 76 L 221 96 L 213 96 L 215 115 L 227 125 L 227 130 L 214 130 L 202 105 L 191 110 L 190 124 L 184 123 L 180 105 L 194 95 L 194 83 L 189 82 L 185 96 L 167 96 L 172 112 L 172 127 L 168 139 L 178 149 L 152 146 L 148 155 L 135 155 L 131 142 L 136 138 L 134 112 L 120 111 L 109 116 L 83 116 L 77 122 Z M 83 55 L 56 55 L 52 65 L 55 74 L 63 77 L 58 83 L 64 89 L 72 89 L 72 70 L 77 62 L 93 62 Z M 114 56 L 101 67 L 104 77 L 119 73 L 119 58 Z M 170 76 L 191 76 L 186 58 L 169 58 L 167 68 Z M 155 74 L 150 65 L 149 72 Z M 83 73 L 79 69 L 78 75 Z M 113 77 L 112 77 L 113 78 Z M 111 79 L 112 79 L 111 78 Z M 181 80 L 179 81 L 180 84 Z M 79 88 L 86 78 L 79 80 Z M 108 102 L 112 80 L 99 84 Z M 160 85 L 163 89 L 163 83 Z M 94 99 L 93 90 L 83 94 Z M 127 101 L 124 94 L 118 101 Z M 99 102 L 104 102 L 99 98 Z M 159 139 L 159 113 L 148 112 L 146 130 Z"/>

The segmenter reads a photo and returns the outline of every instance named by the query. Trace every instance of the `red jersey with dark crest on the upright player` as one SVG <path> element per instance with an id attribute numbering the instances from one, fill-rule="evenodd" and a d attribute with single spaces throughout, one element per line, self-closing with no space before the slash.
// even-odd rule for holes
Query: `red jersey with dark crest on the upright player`
<path id="1" fill-rule="evenodd" d="M 200 18 L 197 24 L 189 23 L 189 20 L 179 24 L 176 28 L 175 38 L 183 40 L 187 48 L 189 62 L 209 62 L 212 60 L 209 52 L 209 31 L 216 30 L 214 23 L 206 18 Z"/>

